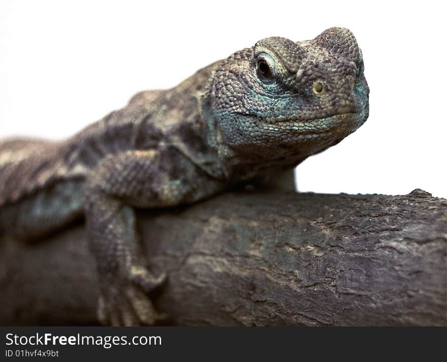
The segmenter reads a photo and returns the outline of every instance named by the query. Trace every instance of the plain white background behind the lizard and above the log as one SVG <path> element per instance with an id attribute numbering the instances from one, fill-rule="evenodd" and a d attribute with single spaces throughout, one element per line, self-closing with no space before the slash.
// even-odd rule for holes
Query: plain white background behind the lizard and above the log
<path id="1" fill-rule="evenodd" d="M 0 138 L 67 137 L 142 89 L 282 36 L 349 28 L 365 60 L 370 116 L 298 167 L 300 191 L 447 197 L 442 2 L 0 2 Z"/>

